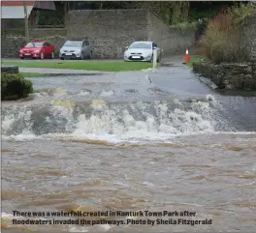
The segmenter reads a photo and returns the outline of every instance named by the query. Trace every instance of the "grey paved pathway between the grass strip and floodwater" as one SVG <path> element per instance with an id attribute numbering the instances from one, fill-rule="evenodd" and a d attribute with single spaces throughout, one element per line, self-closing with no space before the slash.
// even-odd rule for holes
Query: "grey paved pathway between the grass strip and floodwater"
<path id="1" fill-rule="evenodd" d="M 183 63 L 183 56 L 172 56 L 164 58 L 162 61 L 162 67 L 152 71 L 144 70 L 143 72 L 122 72 L 122 73 L 105 73 L 105 72 L 93 72 L 93 71 L 80 71 L 80 70 L 66 70 L 66 69 L 44 69 L 44 68 L 19 68 L 19 72 L 22 73 L 65 73 L 66 75 L 74 74 L 95 74 L 93 76 L 86 77 L 88 81 L 97 82 L 97 80 L 106 80 L 110 77 L 114 82 L 118 82 L 120 85 L 127 86 L 133 82 L 135 77 L 140 77 L 133 86 L 138 88 L 138 85 L 146 85 L 151 83 L 151 86 L 159 88 L 160 91 L 167 92 L 171 96 L 182 96 L 184 98 L 197 96 L 206 97 L 208 94 L 214 94 L 215 91 L 203 83 L 191 69 L 187 68 Z M 104 74 L 97 76 L 97 74 Z M 118 77 L 118 78 L 117 78 Z M 117 79 L 118 81 L 117 81 Z M 82 78 L 83 79 L 83 78 Z M 116 79 L 116 80 L 115 80 Z M 145 83 L 146 82 L 146 83 Z M 60 85 L 59 83 L 58 85 Z"/>

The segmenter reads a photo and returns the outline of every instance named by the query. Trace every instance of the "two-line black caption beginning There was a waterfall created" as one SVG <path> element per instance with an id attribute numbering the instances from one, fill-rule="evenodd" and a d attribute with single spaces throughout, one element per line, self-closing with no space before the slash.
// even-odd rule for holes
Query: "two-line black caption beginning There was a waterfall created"
<path id="1" fill-rule="evenodd" d="M 76 224 L 76 225 L 206 225 L 212 219 L 197 219 L 190 211 L 98 211 L 98 212 L 19 212 L 13 211 L 13 224 Z"/>

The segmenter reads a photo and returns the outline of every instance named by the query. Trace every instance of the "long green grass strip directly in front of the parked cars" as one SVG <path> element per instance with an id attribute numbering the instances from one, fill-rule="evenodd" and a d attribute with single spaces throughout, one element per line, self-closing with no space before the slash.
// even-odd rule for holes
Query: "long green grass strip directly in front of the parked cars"
<path id="1" fill-rule="evenodd" d="M 128 72 L 152 68 L 147 62 L 2 62 L 2 66 L 18 66 L 23 68 L 71 69 L 97 72 Z"/>

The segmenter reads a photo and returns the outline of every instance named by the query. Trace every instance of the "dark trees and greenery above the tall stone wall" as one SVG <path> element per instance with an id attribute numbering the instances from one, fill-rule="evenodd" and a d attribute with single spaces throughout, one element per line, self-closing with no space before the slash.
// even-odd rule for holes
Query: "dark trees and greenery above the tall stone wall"
<path id="1" fill-rule="evenodd" d="M 249 1 L 53 1 L 56 11 L 36 11 L 34 26 L 65 25 L 65 15 L 71 10 L 118 10 L 146 9 L 159 16 L 169 25 L 180 22 L 193 22 L 199 18 L 211 18 L 220 9 Z"/>

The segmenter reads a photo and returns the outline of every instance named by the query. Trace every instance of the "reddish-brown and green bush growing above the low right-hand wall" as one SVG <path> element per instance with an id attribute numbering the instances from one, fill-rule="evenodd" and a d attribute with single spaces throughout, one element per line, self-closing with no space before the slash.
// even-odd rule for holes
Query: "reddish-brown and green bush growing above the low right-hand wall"
<path id="1" fill-rule="evenodd" d="M 241 28 L 250 11 L 245 7 L 223 10 L 208 23 L 201 40 L 208 59 L 213 63 L 246 62 L 250 58 L 248 40 Z"/>

